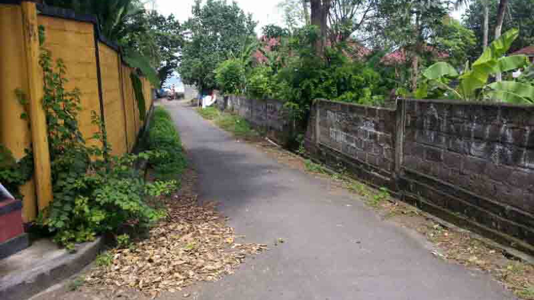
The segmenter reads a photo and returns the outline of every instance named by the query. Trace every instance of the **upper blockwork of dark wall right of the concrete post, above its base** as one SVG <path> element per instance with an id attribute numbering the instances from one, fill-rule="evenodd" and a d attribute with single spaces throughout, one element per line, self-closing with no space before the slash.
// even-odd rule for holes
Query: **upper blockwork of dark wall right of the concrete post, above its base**
<path id="1" fill-rule="evenodd" d="M 403 167 L 529 213 L 533 147 L 534 108 L 406 103 Z"/>

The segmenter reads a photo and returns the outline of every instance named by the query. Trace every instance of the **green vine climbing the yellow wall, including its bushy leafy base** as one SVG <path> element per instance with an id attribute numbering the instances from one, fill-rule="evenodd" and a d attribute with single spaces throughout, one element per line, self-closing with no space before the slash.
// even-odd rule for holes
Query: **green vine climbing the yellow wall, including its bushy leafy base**
<path id="1" fill-rule="evenodd" d="M 50 51 L 42 47 L 39 63 L 43 70 L 53 201 L 40 213 L 37 223 L 69 249 L 97 234 L 115 233 L 124 227 L 148 228 L 164 212 L 148 205 L 146 198 L 169 193 L 176 182 L 147 183 L 133 166 L 140 159 L 162 154 L 151 151 L 122 157 L 109 155 L 104 124 L 94 111 L 92 122 L 98 131 L 91 140 L 96 143 L 88 146 L 78 123 L 82 110 L 80 91 L 65 88 L 65 63 L 60 59 L 54 63 L 51 57 Z"/>

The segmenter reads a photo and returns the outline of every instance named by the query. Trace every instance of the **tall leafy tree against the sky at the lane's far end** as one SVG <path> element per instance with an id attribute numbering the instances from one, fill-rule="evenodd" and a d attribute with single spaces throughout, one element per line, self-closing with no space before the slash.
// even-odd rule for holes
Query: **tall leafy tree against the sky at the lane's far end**
<path id="1" fill-rule="evenodd" d="M 256 22 L 233 2 L 196 0 L 193 17 L 187 20 L 185 42 L 178 72 L 186 84 L 200 90 L 215 87 L 214 70 L 217 65 L 238 55 L 250 35 L 255 35 Z"/>

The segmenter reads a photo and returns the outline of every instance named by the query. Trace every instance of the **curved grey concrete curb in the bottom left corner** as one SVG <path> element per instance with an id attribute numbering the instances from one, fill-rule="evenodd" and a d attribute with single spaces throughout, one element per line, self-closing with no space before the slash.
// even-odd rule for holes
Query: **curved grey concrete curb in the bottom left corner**
<path id="1" fill-rule="evenodd" d="M 64 253 L 58 257 L 21 272 L 5 275 L 0 279 L 0 299 L 23 300 L 80 272 L 100 252 L 104 245 L 102 238 L 76 246 L 75 253 Z"/>

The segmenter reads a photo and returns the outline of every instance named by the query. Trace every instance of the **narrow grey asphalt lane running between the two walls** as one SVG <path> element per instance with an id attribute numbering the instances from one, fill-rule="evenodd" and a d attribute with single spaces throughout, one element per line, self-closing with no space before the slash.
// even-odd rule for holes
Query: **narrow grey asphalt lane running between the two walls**
<path id="1" fill-rule="evenodd" d="M 514 299 L 489 275 L 438 260 L 426 241 L 381 221 L 357 196 L 329 192 L 323 180 L 175 103 L 166 107 L 199 173 L 201 199 L 219 201 L 238 234 L 272 249 L 203 285 L 197 299 Z M 274 247 L 278 238 L 285 243 Z"/>

